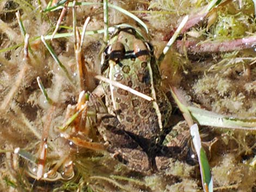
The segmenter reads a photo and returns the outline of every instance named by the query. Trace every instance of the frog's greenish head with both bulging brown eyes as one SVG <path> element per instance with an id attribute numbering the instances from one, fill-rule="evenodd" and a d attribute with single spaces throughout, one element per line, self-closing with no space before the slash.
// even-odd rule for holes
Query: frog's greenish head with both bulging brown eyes
<path id="1" fill-rule="evenodd" d="M 112 35 L 103 53 L 105 62 L 102 70 L 108 67 L 108 61 L 115 63 L 123 59 L 138 58 L 147 62 L 154 55 L 154 47 L 145 40 L 139 30 L 132 27 L 118 28 Z"/>

